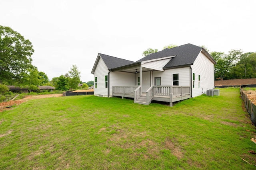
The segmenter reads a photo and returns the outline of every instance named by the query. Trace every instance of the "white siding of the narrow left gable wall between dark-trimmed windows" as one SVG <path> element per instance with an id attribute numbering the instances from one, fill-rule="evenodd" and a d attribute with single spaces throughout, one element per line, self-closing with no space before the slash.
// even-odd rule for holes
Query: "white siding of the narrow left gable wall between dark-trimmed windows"
<path id="1" fill-rule="evenodd" d="M 108 75 L 108 68 L 100 58 L 94 72 L 94 80 L 97 77 L 97 88 L 94 88 L 95 96 L 108 97 L 108 88 L 105 88 L 105 76 Z M 95 83 L 94 83 L 95 86 Z"/>

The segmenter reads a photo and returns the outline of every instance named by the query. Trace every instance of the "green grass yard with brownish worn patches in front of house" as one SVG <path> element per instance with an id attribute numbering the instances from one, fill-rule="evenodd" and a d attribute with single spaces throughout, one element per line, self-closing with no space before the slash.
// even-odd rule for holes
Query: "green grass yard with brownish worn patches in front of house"
<path id="1" fill-rule="evenodd" d="M 0 169 L 256 169 L 240 91 L 220 95 L 174 107 L 96 96 L 22 103 L 0 112 Z"/>

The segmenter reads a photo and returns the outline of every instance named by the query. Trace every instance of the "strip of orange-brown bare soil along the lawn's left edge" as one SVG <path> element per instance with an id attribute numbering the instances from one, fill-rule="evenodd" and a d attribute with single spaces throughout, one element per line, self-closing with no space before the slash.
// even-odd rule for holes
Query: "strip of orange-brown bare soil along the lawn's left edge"
<path id="1" fill-rule="evenodd" d="M 26 102 L 28 100 L 39 99 L 39 98 L 61 97 L 61 96 L 63 96 L 63 94 L 31 95 L 31 96 L 26 96 L 25 98 L 20 99 L 20 100 L 2 102 L 2 103 L 0 103 L 0 112 L 4 111 L 5 109 L 8 109 L 12 106 L 19 105 L 19 104 L 21 104 L 23 102 Z"/>

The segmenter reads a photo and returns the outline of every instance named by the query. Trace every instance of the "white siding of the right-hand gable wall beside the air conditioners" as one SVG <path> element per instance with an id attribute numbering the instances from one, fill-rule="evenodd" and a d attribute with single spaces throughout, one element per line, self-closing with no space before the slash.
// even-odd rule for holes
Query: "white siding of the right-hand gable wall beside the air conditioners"
<path id="1" fill-rule="evenodd" d="M 192 97 L 200 96 L 206 92 L 206 90 L 214 87 L 214 64 L 203 53 L 199 53 L 191 68 L 192 73 L 195 73 L 195 84 L 194 88 L 192 88 Z M 192 78 L 193 77 L 191 77 L 191 79 Z"/>

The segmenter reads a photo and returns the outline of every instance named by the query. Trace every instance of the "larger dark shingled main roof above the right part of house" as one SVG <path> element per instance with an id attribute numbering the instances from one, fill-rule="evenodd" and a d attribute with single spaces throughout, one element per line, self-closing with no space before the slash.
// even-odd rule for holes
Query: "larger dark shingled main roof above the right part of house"
<path id="1" fill-rule="evenodd" d="M 163 68 L 184 66 L 193 64 L 201 50 L 202 47 L 188 43 L 171 49 L 164 49 L 157 53 L 152 53 L 136 62 L 175 56 Z"/>

